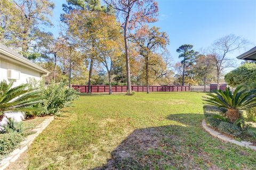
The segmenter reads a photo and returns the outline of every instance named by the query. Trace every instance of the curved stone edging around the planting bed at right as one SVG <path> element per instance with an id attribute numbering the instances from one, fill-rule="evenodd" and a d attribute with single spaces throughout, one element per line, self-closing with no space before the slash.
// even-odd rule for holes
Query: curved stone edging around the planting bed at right
<path id="1" fill-rule="evenodd" d="M 231 143 L 235 143 L 241 147 L 246 147 L 246 148 L 251 148 L 252 150 L 256 151 L 256 146 L 252 145 L 252 143 L 250 142 L 246 142 L 246 141 L 237 141 L 234 139 L 231 139 L 230 137 L 223 135 L 217 131 L 214 131 L 214 129 L 211 129 L 210 127 L 208 127 L 205 123 L 205 119 L 203 119 L 202 121 L 202 126 L 205 129 L 206 132 L 209 132 L 212 136 L 214 137 L 218 137 L 219 139 L 221 139 L 222 141 L 227 141 L 227 142 L 231 142 Z"/>

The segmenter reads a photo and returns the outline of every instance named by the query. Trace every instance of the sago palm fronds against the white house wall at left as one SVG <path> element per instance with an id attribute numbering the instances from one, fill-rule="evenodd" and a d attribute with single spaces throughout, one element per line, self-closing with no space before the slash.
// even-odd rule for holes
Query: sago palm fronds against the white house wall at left
<path id="1" fill-rule="evenodd" d="M 28 84 L 12 87 L 13 83 L 7 84 L 5 80 L 0 83 L 0 115 L 4 111 L 36 111 L 33 107 L 42 103 L 41 91 L 28 88 Z"/>

